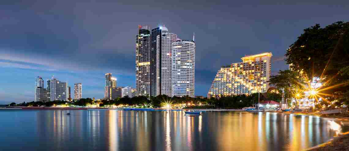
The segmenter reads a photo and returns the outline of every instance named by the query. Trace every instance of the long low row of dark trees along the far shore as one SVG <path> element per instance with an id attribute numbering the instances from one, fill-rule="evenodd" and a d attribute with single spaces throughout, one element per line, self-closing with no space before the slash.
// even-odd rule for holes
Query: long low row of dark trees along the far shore
<path id="1" fill-rule="evenodd" d="M 281 95 L 276 93 L 260 94 L 260 100 L 273 100 L 280 102 Z M 252 95 L 232 95 L 227 97 L 217 98 L 192 98 L 189 96 L 183 97 L 169 97 L 166 95 L 158 95 L 156 97 L 121 97 L 115 100 L 99 100 L 93 101 L 91 98 L 82 98 L 77 101 L 50 101 L 50 102 L 23 102 L 11 103 L 9 106 L 58 106 L 58 107 L 74 107 L 74 106 L 88 106 L 88 107 L 136 107 L 136 108 L 161 108 L 165 105 L 171 105 L 172 108 L 202 108 L 202 109 L 241 109 L 246 106 L 252 106 L 258 103 L 258 93 Z"/>

